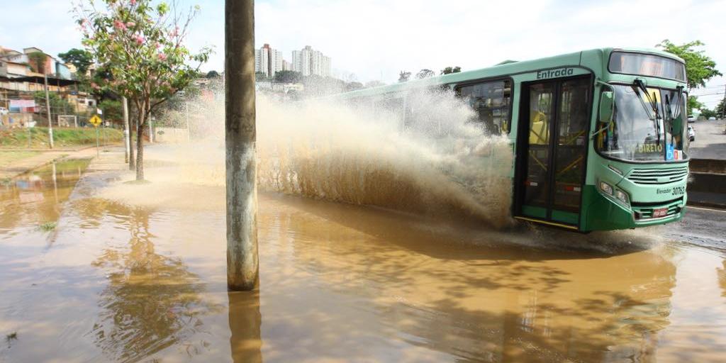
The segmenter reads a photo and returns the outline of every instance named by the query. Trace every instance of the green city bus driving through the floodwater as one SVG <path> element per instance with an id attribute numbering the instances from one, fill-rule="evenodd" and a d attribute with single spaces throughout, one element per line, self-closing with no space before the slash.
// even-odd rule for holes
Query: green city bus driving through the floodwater
<path id="1" fill-rule="evenodd" d="M 657 49 L 592 49 L 343 94 L 405 98 L 441 87 L 470 100 L 515 156 L 515 219 L 579 232 L 682 219 L 688 179 L 686 74 Z"/>

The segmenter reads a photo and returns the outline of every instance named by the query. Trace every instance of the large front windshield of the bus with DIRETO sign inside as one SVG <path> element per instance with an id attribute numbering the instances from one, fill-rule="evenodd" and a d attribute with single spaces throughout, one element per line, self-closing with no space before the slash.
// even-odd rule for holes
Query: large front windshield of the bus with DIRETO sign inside
<path id="1" fill-rule="evenodd" d="M 595 147 L 605 156 L 631 161 L 684 160 L 688 151 L 685 97 L 676 90 L 613 86 L 615 114 L 599 123 Z"/>

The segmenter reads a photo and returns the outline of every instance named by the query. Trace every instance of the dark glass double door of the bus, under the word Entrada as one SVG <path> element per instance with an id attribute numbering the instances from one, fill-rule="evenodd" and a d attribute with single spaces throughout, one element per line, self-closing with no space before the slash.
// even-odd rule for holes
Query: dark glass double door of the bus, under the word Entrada
<path id="1" fill-rule="evenodd" d="M 515 216 L 577 228 L 591 89 L 590 77 L 523 84 Z"/>

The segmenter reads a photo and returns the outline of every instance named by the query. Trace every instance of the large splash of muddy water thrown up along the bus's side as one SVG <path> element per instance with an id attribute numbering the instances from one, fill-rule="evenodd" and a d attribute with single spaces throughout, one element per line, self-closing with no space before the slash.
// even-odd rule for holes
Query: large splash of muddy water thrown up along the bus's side
<path id="1" fill-rule="evenodd" d="M 179 147 L 178 177 L 224 184 L 224 105 L 198 101 L 196 141 Z M 261 190 L 509 225 L 509 139 L 486 135 L 450 91 L 417 91 L 401 110 L 340 99 L 257 99 Z M 203 132 L 198 132 L 204 130 Z M 204 134 L 200 139 L 199 134 Z"/>

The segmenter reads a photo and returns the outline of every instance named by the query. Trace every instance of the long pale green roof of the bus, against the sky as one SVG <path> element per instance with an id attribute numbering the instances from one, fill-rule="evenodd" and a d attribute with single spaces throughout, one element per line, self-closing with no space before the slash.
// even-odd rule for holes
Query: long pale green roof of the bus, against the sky
<path id="1" fill-rule="evenodd" d="M 439 84 L 449 83 L 460 83 L 464 81 L 470 81 L 473 79 L 484 79 L 484 78 L 497 78 L 503 76 L 509 76 L 518 73 L 528 73 L 535 70 L 542 70 L 547 68 L 557 68 L 567 65 L 582 65 L 581 60 L 583 55 L 600 55 L 600 59 L 605 60 L 606 56 L 613 51 L 622 52 L 637 52 L 646 54 L 656 54 L 661 57 L 669 57 L 679 62 L 684 62 L 680 57 L 674 54 L 664 52 L 661 49 L 648 49 L 648 48 L 598 48 L 589 49 L 582 52 L 559 54 L 552 57 L 538 58 L 536 60 L 523 60 L 523 61 L 510 61 L 501 62 L 489 68 L 481 68 L 478 70 L 467 70 L 460 73 L 450 73 L 444 76 L 434 76 L 424 79 L 416 79 L 407 82 L 393 83 L 387 86 L 378 86 L 371 89 L 359 89 L 357 91 L 350 91 L 343 94 L 338 94 L 335 97 L 367 97 L 376 94 L 386 94 L 391 92 L 404 91 L 405 89 L 420 88 L 425 86 L 436 86 Z M 604 62 L 604 61 L 603 61 Z"/>

